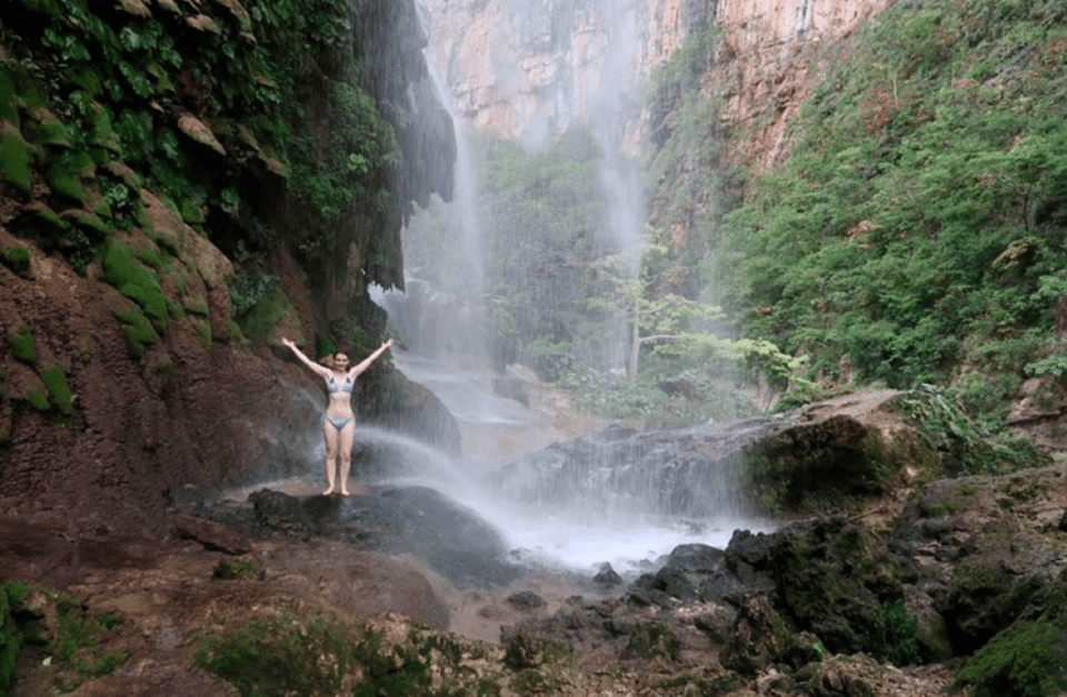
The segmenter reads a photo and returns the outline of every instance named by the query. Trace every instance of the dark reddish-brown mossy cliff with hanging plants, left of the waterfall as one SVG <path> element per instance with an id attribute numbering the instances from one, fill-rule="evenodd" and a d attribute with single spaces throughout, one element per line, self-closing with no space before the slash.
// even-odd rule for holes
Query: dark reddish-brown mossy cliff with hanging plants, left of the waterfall
<path id="1" fill-rule="evenodd" d="M 8 4 L 0 511 L 156 534 L 174 487 L 321 476 L 322 387 L 277 339 L 375 341 L 351 308 L 399 282 L 411 201 L 451 188 L 413 3 Z M 387 364 L 360 418 L 455 448 Z"/>

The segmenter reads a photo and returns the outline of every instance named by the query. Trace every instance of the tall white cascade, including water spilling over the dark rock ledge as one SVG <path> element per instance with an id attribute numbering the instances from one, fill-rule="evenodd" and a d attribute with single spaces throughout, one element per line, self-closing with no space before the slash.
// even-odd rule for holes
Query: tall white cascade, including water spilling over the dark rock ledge
<path id="1" fill-rule="evenodd" d="M 635 69 L 639 32 L 630 4 L 628 0 L 604 0 L 575 19 L 576 24 L 599 22 L 606 27 L 608 40 L 599 57 L 601 80 L 588 93 L 570 100 L 561 98 L 569 103 L 552 119 L 560 129 L 570 119 L 584 120 L 594 133 L 604 153 L 599 177 L 608 201 L 604 229 L 611 239 L 606 240 L 607 247 L 624 252 L 626 271 L 632 278 L 640 268 L 646 213 L 642 172 L 626 152 L 626 140 L 631 136 L 628 128 L 637 109 L 632 96 L 639 91 L 635 79 L 640 79 Z M 530 10 L 525 12 L 529 14 Z M 556 20 L 559 24 L 558 17 Z M 423 17 L 423 21 L 428 20 Z M 432 53 L 432 28 L 427 33 L 431 44 L 428 51 Z M 538 41 L 550 40 L 546 37 L 551 32 L 534 33 Z M 486 236 L 493 231 L 483 229 L 479 219 L 473 169 L 478 162 L 469 147 L 472 125 L 465 121 L 439 77 L 447 66 L 435 66 L 431 57 L 427 58 L 439 98 L 456 125 L 458 157 L 455 200 L 450 205 L 436 201 L 426 215 L 431 218 L 430 225 L 450 227 L 452 243 L 436 250 L 437 257 L 430 260 L 436 268 L 413 265 L 408 269 L 406 292 L 372 289 L 372 297 L 386 308 L 401 335 L 401 346 L 393 350 L 398 369 L 433 391 L 457 418 L 463 432 L 463 455 L 451 460 L 397 439 L 393 445 L 408 452 L 401 458 L 406 465 L 386 472 L 377 484 L 428 486 L 445 494 L 495 526 L 511 546 L 512 557 L 536 565 L 590 571 L 609 562 L 626 575 L 637 572 L 679 544 L 725 547 L 744 517 L 730 494 L 736 481 L 726 469 L 667 472 L 667 479 L 692 477 L 681 481 L 680 488 L 699 496 L 701 504 L 688 509 L 665 505 L 665 476 L 655 465 L 649 468 L 631 461 L 639 454 L 610 446 L 569 470 L 567 477 L 551 476 L 561 466 L 552 461 L 554 452 L 544 448 L 582 431 L 567 432 L 559 427 L 552 400 L 541 391 L 548 388 L 536 378 L 515 367 L 501 377 L 487 360 L 482 251 Z M 535 125 L 521 133 L 528 147 L 535 147 L 544 136 L 539 130 L 544 122 L 534 120 Z M 405 232 L 406 245 L 418 241 L 415 230 Z M 405 257 L 427 259 L 425 253 L 409 255 L 408 249 Z M 604 342 L 602 365 L 621 370 L 627 364 L 627 332 L 622 326 L 608 329 L 606 336 L 611 340 Z M 521 400 L 499 395 L 495 387 L 501 380 L 521 385 Z M 591 422 L 586 430 L 605 426 Z M 366 447 L 368 440 L 393 437 L 360 429 L 357 438 Z M 536 455 L 502 475 L 502 466 L 529 454 Z M 411 462 L 417 465 L 412 468 Z M 548 476 L 541 476 L 546 471 Z M 751 521 L 745 525 L 759 527 Z"/>

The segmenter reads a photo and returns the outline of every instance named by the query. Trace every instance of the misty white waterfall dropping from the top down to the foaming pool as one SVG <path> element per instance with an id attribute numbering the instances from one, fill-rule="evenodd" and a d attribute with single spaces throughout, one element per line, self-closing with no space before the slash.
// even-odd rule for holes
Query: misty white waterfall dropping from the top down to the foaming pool
<path id="1" fill-rule="evenodd" d="M 527 3 L 506 4 L 512 12 L 531 17 L 538 11 Z M 628 131 L 638 117 L 638 106 L 634 103 L 635 94 L 639 93 L 639 84 L 635 83 L 639 79 L 635 2 L 598 0 L 577 4 L 585 9 L 579 12 L 572 8 L 576 14 L 580 14 L 575 24 L 585 23 L 587 28 L 598 24 L 607 37 L 598 69 L 599 81 L 588 92 L 576 88 L 572 93 L 564 93 L 558 89 L 554 113 L 531 119 L 519 136 L 527 143 L 536 142 L 542 139 L 546 123 L 564 130 L 572 122 L 582 122 L 592 130 L 604 156 L 600 181 L 608 201 L 606 228 L 611 236 L 609 247 L 626 253 L 627 271 L 632 278 L 640 268 L 639 250 L 646 216 L 642 172 L 632 153 L 626 152 Z M 559 8 L 554 6 L 554 9 Z M 432 31 L 427 33 L 432 43 Z M 437 67 L 435 70 L 433 61 L 428 58 L 427 62 L 431 73 L 447 69 Z M 376 299 L 389 311 L 393 326 L 402 323 L 401 333 L 408 335 L 402 342 L 411 350 L 395 350 L 397 367 L 410 379 L 431 389 L 453 414 L 465 434 L 466 452 L 459 460 L 452 460 L 425 446 L 403 441 L 400 444 L 402 448 L 415 454 L 410 459 L 421 465 L 417 471 L 409 468 L 402 476 L 395 476 L 392 481 L 431 486 L 446 494 L 497 527 L 520 556 L 541 565 L 590 570 L 607 561 L 625 574 L 640 569 L 679 544 L 725 547 L 738 522 L 736 511 L 729 506 L 724 509 L 725 516 L 682 519 L 664 515 L 656 506 L 649 505 L 648 500 L 655 497 L 645 496 L 647 492 L 607 487 L 599 491 L 596 488 L 584 490 L 581 500 L 569 498 L 565 491 L 511 497 L 506 490 L 491 486 L 486 477 L 487 470 L 568 435 L 554 430 L 550 409 L 544 404 L 525 406 L 496 395 L 493 380 L 497 378 L 485 360 L 478 360 L 485 358 L 480 350 L 483 348 L 481 325 L 477 320 L 485 311 L 481 307 L 485 278 L 482 235 L 488 231 L 481 229 L 478 218 L 476 163 L 471 161 L 468 147 L 469 123 L 457 112 L 446 83 L 439 79 L 435 81 L 456 123 L 458 157 L 456 200 L 448 207 L 437 203 L 441 210 L 431 212 L 436 225 L 458 226 L 456 247 L 462 250 L 463 259 L 451 263 L 452 273 L 438 273 L 432 281 L 427 279 L 433 276 L 433 270 L 411 268 L 406 295 L 379 292 Z M 412 243 L 412 237 L 413 233 L 406 233 L 406 243 Z M 456 249 L 448 251 L 455 252 Z M 415 255 L 408 255 L 406 250 L 405 256 Z M 432 323 L 432 332 L 427 330 L 428 322 Z M 431 339 L 428 338 L 430 333 L 433 335 Z M 628 341 L 625 327 L 609 328 L 608 335 L 614 340 L 604 342 L 605 367 L 625 367 Z M 498 440 L 507 438 L 503 450 L 505 455 L 511 456 L 510 460 L 501 462 L 498 457 L 490 457 L 483 449 L 485 442 L 472 436 L 490 431 Z M 368 442 L 382 439 L 395 445 L 399 442 L 397 436 L 366 430 L 360 430 L 360 437 Z M 724 481 L 718 486 L 729 484 Z"/>

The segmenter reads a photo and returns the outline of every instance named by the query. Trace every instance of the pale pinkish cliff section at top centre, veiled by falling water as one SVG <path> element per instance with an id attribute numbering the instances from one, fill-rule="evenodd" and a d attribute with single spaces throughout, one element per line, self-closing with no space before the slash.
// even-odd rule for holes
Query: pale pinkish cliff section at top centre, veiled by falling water
<path id="1" fill-rule="evenodd" d="M 635 77 L 677 49 L 687 17 L 708 11 L 704 4 L 428 0 L 428 57 L 457 112 L 475 128 L 536 141 L 621 109 L 632 130 L 641 111 Z"/>

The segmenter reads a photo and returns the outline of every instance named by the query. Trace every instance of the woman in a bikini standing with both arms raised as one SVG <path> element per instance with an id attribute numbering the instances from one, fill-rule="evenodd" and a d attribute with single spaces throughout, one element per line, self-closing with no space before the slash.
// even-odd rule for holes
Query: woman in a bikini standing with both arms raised
<path id="1" fill-rule="evenodd" d="M 322 496 L 333 494 L 333 466 L 340 456 L 340 489 L 341 496 L 348 496 L 348 469 L 352 464 L 352 435 L 356 432 L 356 415 L 352 414 L 352 388 L 359 377 L 370 364 L 375 362 L 387 348 L 392 346 L 392 339 L 387 339 L 378 349 L 360 364 L 348 367 L 348 354 L 333 354 L 333 369 L 320 366 L 297 348 L 291 339 L 282 339 L 312 372 L 326 380 L 326 390 L 329 392 L 329 402 L 326 406 L 326 417 L 322 419 L 322 438 L 326 440 L 326 480 L 329 486 Z"/>

